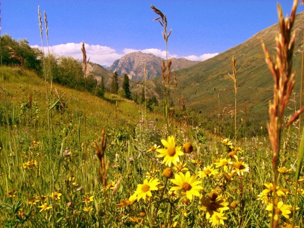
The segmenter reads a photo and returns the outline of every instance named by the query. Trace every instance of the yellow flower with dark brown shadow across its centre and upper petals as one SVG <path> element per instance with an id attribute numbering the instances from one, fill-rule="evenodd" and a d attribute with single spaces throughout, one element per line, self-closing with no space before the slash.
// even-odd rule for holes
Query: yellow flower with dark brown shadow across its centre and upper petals
<path id="1" fill-rule="evenodd" d="M 199 209 L 206 211 L 206 218 L 209 219 L 214 213 L 228 210 L 228 205 L 229 202 L 226 202 L 217 192 L 211 192 L 209 196 L 201 199 L 201 207 Z"/>

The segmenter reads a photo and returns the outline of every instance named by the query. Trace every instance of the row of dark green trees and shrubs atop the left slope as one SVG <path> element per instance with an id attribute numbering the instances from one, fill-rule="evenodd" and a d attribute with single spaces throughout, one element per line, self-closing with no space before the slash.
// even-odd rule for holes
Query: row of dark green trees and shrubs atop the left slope
<path id="1" fill-rule="evenodd" d="M 44 55 L 40 49 L 31 47 L 26 39 L 15 40 L 8 34 L 1 36 L 0 42 L 4 65 L 18 66 L 22 70 L 34 70 L 48 81 L 52 80 L 54 83 L 79 91 L 88 91 L 98 97 L 104 97 L 105 92 L 119 94 L 138 104 L 146 103 L 150 110 L 158 103 L 155 96 L 146 100 L 143 88 L 140 95 L 136 93 L 132 96 L 127 74 L 124 74 L 119 89 L 118 74 L 114 72 L 111 87 L 108 89 L 104 85 L 103 76 L 98 83 L 93 75 L 85 75 L 82 63 L 73 57 Z"/>

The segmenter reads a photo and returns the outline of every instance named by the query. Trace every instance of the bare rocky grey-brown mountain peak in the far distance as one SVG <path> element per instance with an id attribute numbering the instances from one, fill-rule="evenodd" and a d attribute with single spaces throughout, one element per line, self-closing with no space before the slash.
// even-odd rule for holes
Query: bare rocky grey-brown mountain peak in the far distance
<path id="1" fill-rule="evenodd" d="M 173 70 L 186 68 L 198 63 L 185 58 L 172 58 Z M 117 72 L 120 75 L 128 74 L 129 78 L 135 81 L 144 79 L 144 64 L 147 68 L 147 79 L 159 77 L 162 74 L 161 65 L 163 59 L 154 54 L 142 53 L 140 51 L 124 55 L 108 68 L 111 72 Z"/>

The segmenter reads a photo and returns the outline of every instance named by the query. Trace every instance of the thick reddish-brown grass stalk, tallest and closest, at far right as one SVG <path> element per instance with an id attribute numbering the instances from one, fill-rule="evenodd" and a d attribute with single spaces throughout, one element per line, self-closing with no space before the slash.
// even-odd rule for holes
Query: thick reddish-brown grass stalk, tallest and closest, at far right
<path id="1" fill-rule="evenodd" d="M 272 227 L 277 227 L 278 221 L 274 220 L 275 199 L 277 187 L 277 168 L 279 161 L 281 130 L 284 110 L 287 106 L 289 97 L 294 87 L 294 73 L 291 73 L 292 55 L 295 34 L 291 34 L 294 23 L 298 0 L 293 1 L 290 17 L 283 17 L 280 5 L 277 5 L 280 32 L 276 35 L 276 58 L 271 59 L 269 52 L 262 41 L 262 47 L 265 54 L 266 63 L 274 79 L 273 100 L 269 101 L 269 117 L 267 124 L 270 143 L 273 150 L 272 170 L 273 170 L 273 197 L 272 197 Z"/>

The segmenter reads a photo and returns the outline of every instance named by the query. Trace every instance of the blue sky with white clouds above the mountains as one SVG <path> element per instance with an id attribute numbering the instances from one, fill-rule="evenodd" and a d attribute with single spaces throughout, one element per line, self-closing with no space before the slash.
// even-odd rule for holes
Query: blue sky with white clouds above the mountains
<path id="1" fill-rule="evenodd" d="M 26 38 L 41 46 L 37 9 L 46 11 L 49 45 L 59 55 L 81 58 L 86 43 L 92 61 L 111 65 L 136 50 L 164 57 L 162 27 L 153 22 L 155 5 L 168 18 L 169 55 L 204 60 L 234 47 L 260 30 L 277 23 L 276 4 L 284 15 L 291 0 L 124 0 L 124 1 L 1 1 L 2 34 Z M 299 6 L 297 12 L 303 11 Z"/>

